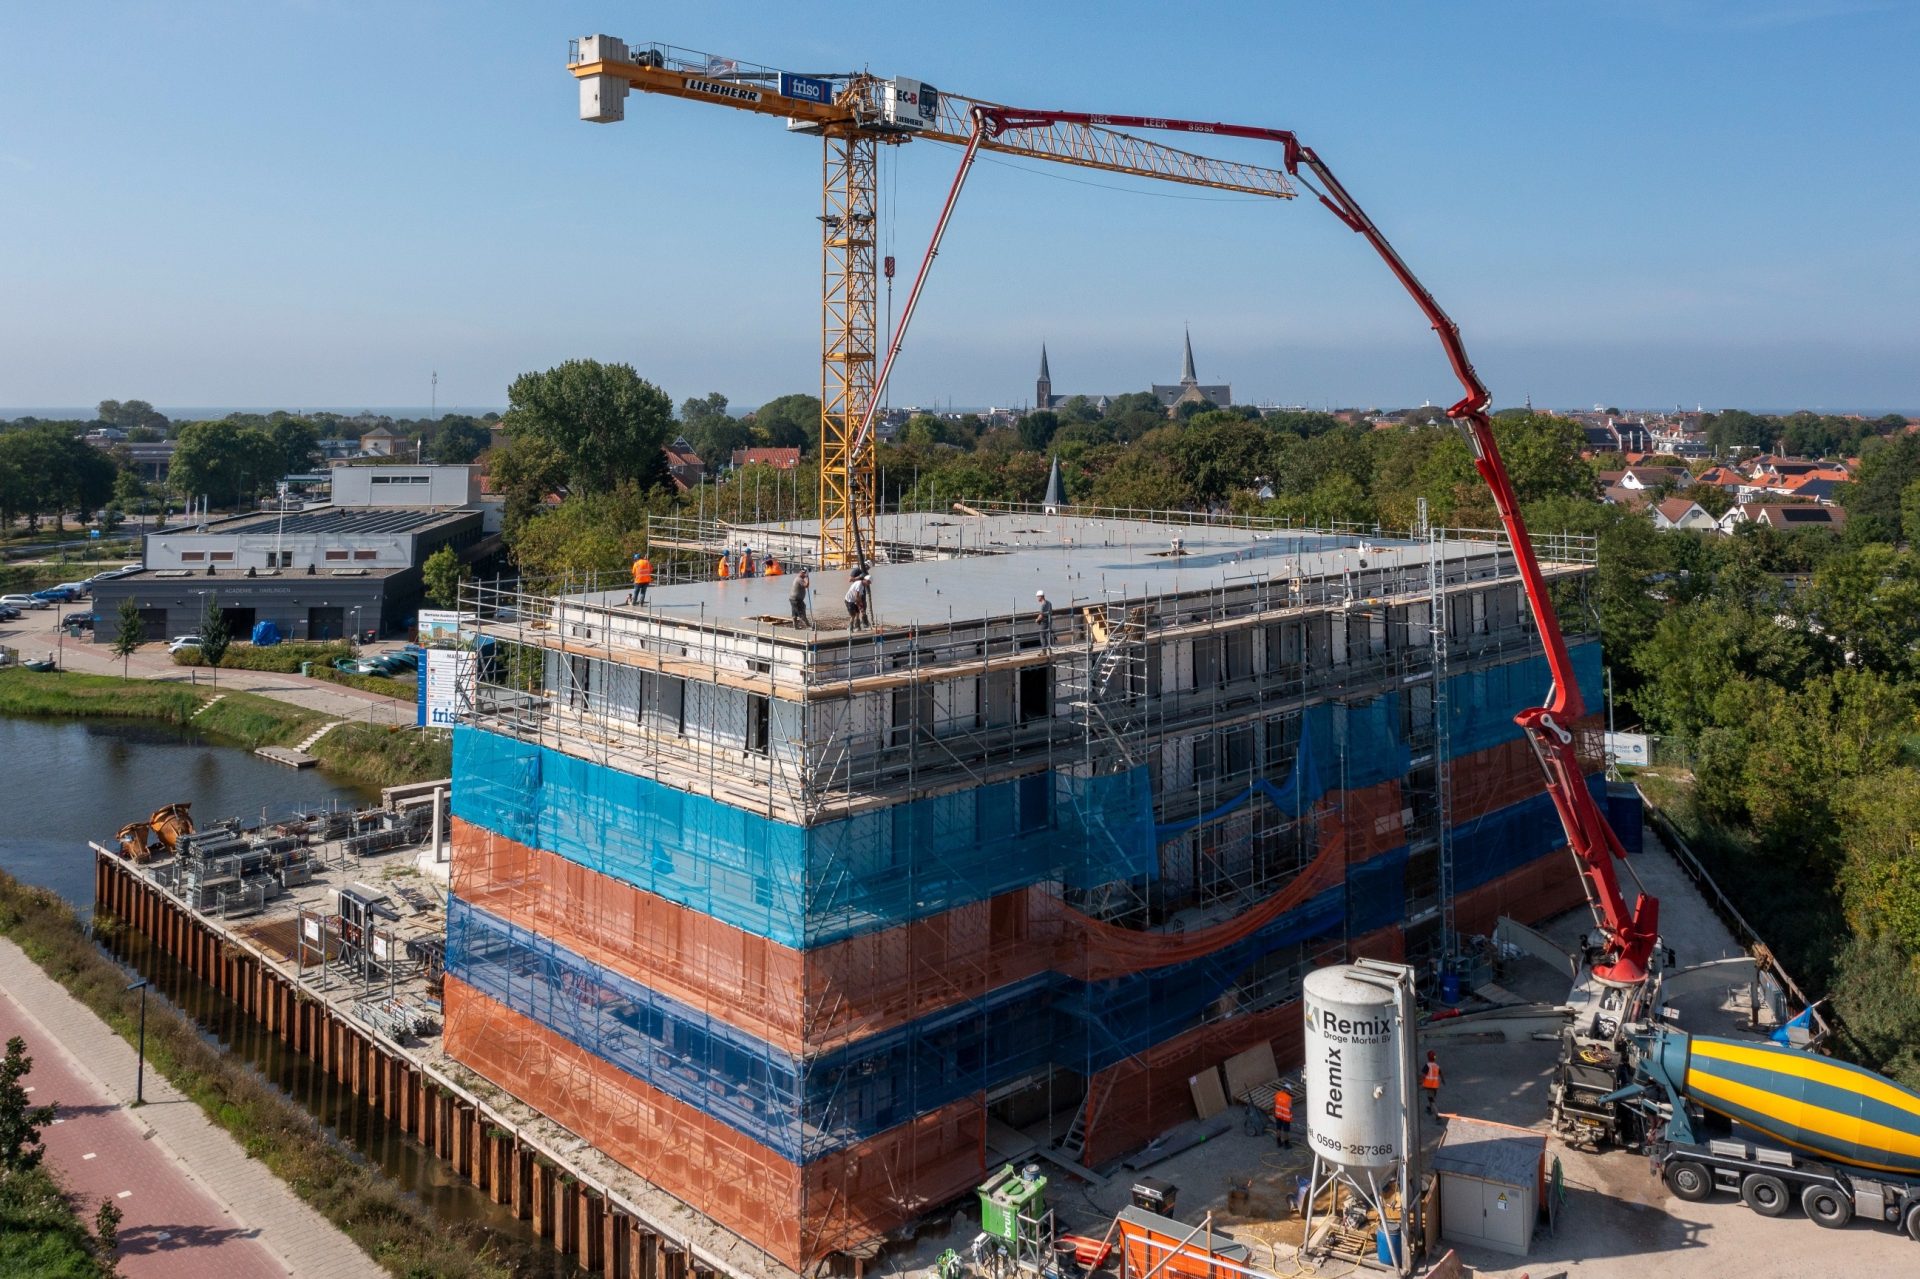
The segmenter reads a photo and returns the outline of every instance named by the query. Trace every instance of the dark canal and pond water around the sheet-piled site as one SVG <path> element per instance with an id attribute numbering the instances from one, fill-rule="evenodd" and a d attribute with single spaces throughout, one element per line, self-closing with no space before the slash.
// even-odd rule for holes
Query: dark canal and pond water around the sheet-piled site
<path id="1" fill-rule="evenodd" d="M 152 722 L 0 716 L 0 768 L 8 774 L 0 778 L 0 870 L 54 889 L 83 918 L 94 906 L 94 855 L 86 841 L 111 847 L 123 824 L 161 805 L 192 803 L 194 822 L 204 826 L 223 816 L 257 822 L 263 810 L 273 818 L 294 808 L 330 803 L 355 808 L 378 799 L 378 793 L 319 770 L 269 764 L 204 734 Z M 129 929 L 113 954 L 150 977 L 209 1041 L 252 1064 L 417 1195 L 436 1218 L 492 1231 L 495 1250 L 516 1273 L 580 1273 L 572 1260 L 536 1239 L 526 1221 L 490 1202 L 386 1116 L 288 1050 L 230 999 L 152 949 L 146 937 Z"/>

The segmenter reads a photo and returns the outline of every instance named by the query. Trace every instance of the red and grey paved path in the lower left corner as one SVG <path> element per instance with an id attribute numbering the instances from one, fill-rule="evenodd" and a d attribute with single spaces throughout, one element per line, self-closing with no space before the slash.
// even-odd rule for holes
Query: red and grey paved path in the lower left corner
<path id="1" fill-rule="evenodd" d="M 0 941 L 0 1039 L 21 1035 L 33 1056 L 33 1102 L 60 1118 L 46 1158 L 83 1200 L 84 1216 L 113 1198 L 127 1279 L 376 1279 L 386 1271 L 351 1239 L 213 1127 L 194 1102 L 146 1074 L 146 1106 L 131 1110 L 134 1050 Z"/>

